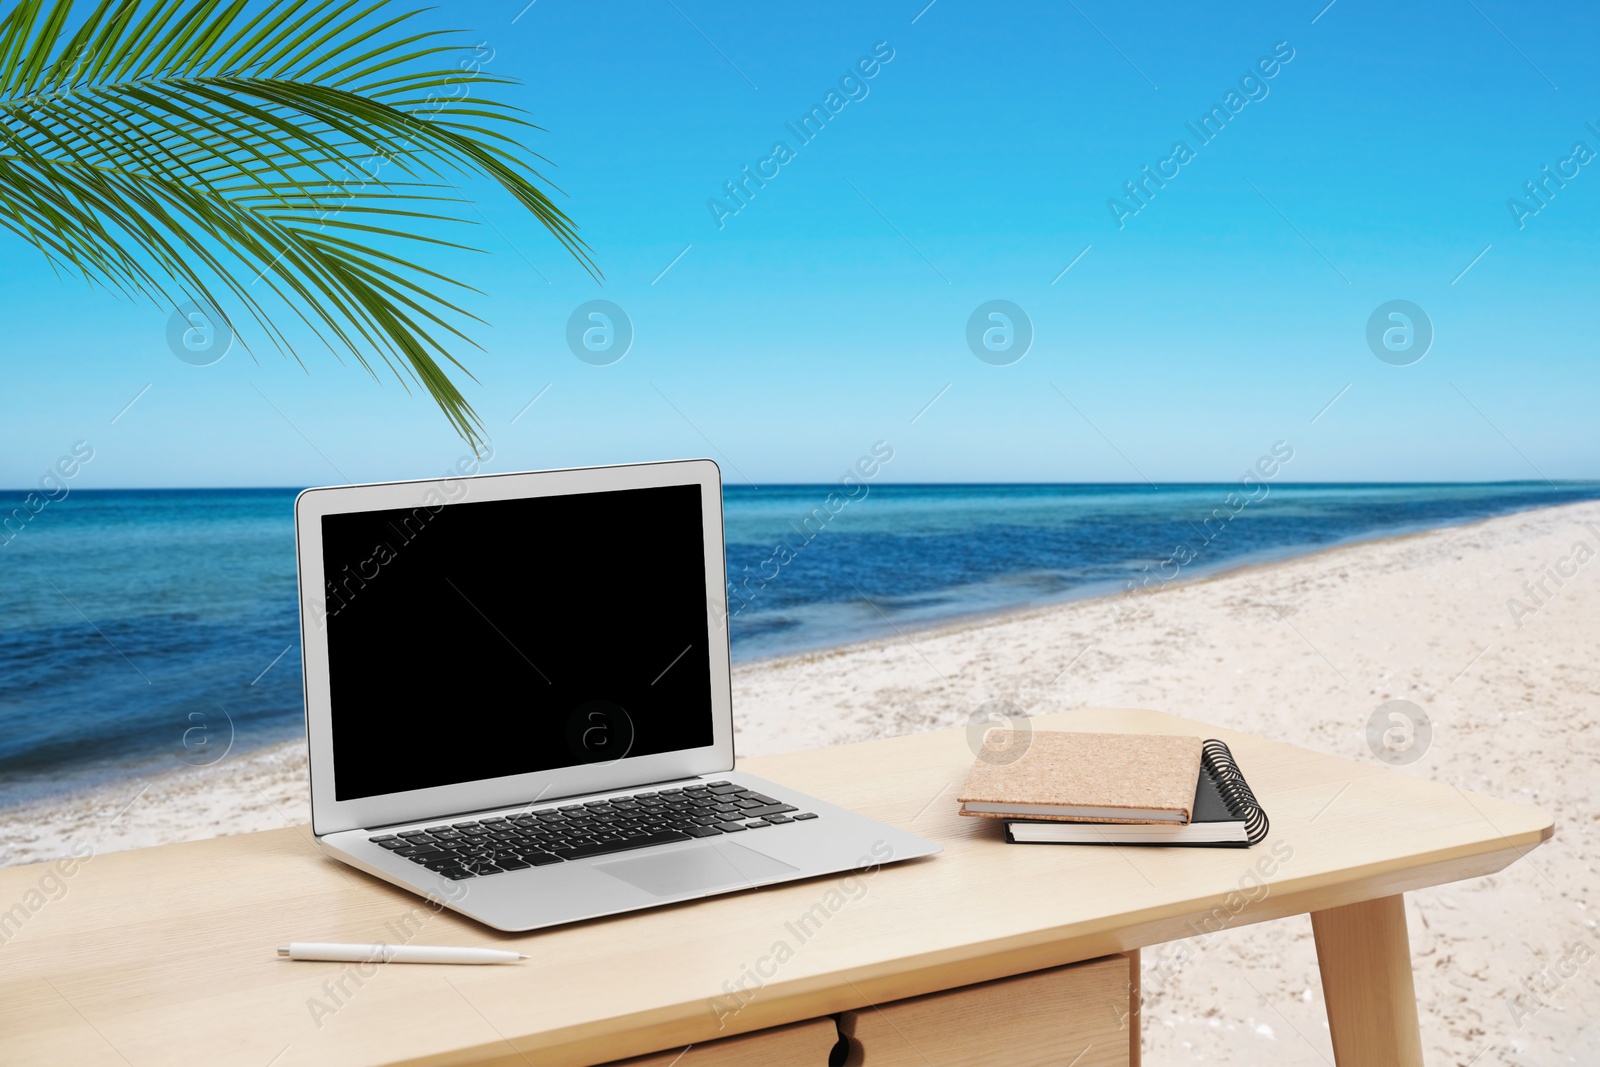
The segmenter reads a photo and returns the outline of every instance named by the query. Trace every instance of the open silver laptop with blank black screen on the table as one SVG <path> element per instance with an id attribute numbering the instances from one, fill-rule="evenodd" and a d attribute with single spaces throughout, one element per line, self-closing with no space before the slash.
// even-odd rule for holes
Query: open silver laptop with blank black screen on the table
<path id="1" fill-rule="evenodd" d="M 312 832 L 523 931 L 938 853 L 734 769 L 709 459 L 307 490 Z"/>

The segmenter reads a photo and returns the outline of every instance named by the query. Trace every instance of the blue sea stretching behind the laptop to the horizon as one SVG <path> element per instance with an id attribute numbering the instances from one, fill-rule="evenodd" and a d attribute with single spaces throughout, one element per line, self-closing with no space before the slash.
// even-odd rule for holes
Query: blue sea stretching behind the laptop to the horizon
<path id="1" fill-rule="evenodd" d="M 0 806 L 302 734 L 294 494 L 72 490 L 0 528 Z M 0 491 L 0 517 L 24 496 Z M 1600 482 L 728 486 L 728 632 L 747 662 L 1592 499 Z"/>

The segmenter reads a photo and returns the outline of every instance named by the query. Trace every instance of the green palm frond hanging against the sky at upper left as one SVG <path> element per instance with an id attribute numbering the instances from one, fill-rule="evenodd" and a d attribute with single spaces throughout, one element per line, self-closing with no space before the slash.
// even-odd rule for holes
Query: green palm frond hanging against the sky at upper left
<path id="1" fill-rule="evenodd" d="M 0 226 L 58 272 L 208 304 L 299 358 L 270 293 L 477 442 L 443 366 L 466 371 L 446 346 L 477 318 L 448 294 L 469 286 L 416 262 L 469 248 L 435 235 L 469 222 L 456 182 L 499 186 L 598 277 L 541 189 L 538 126 L 491 96 L 509 78 L 389 0 L 74 6 L 18 0 L 0 21 Z"/>

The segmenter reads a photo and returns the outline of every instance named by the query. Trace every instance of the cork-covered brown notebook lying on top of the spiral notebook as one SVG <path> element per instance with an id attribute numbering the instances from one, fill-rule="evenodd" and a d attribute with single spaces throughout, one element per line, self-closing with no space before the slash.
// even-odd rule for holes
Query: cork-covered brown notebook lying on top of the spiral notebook
<path id="1" fill-rule="evenodd" d="M 957 800 L 962 814 L 1061 822 L 1186 824 L 1200 779 L 1200 737 L 1168 734 L 984 734 Z"/>

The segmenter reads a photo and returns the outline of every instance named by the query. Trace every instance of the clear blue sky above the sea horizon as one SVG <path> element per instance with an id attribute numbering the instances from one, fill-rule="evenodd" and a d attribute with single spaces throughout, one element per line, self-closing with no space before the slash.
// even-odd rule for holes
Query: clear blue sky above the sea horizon
<path id="1" fill-rule="evenodd" d="M 1285 440 L 1298 480 L 1600 477 L 1600 162 L 1520 229 L 1507 208 L 1574 142 L 1600 152 L 1590 10 L 923 3 L 424 16 L 523 82 L 606 275 L 490 192 L 491 254 L 438 261 L 483 290 L 461 358 L 490 469 L 710 454 L 730 482 L 811 482 L 886 440 L 899 482 L 1222 480 Z M 893 59 L 802 144 L 786 123 L 875 46 Z M 1202 144 L 1186 123 L 1275 46 Z M 1118 227 L 1107 200 L 1179 139 L 1194 158 Z M 718 229 L 707 200 L 774 141 L 792 158 Z M 394 379 L 317 350 L 190 366 L 160 309 L 0 243 L 0 485 L 77 440 L 78 486 L 426 477 L 466 451 Z M 566 346 L 592 299 L 634 325 L 610 366 Z M 1008 366 L 965 336 L 992 299 L 1034 330 Z M 1408 366 L 1365 338 L 1392 299 L 1435 331 Z"/>

